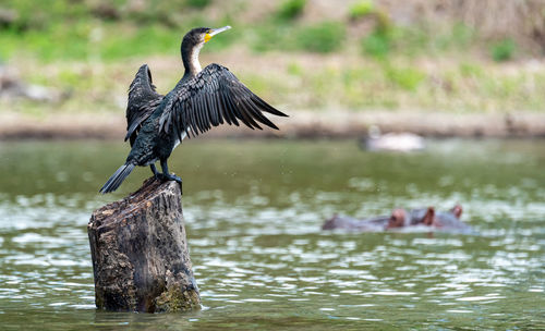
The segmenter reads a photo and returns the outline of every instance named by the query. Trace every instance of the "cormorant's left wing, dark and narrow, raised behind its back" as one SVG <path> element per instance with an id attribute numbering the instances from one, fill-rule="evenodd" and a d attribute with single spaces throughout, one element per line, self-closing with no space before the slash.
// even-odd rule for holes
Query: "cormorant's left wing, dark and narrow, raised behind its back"
<path id="1" fill-rule="evenodd" d="M 142 123 L 154 112 L 165 97 L 155 90 L 152 83 L 152 72 L 147 64 L 143 64 L 129 87 L 125 142 L 131 138 L 131 146 L 138 135 Z"/>

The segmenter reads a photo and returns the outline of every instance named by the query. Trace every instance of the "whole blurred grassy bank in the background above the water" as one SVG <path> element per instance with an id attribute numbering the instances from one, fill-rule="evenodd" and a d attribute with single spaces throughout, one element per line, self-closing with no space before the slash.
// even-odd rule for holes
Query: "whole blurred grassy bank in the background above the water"
<path id="1" fill-rule="evenodd" d="M 291 115 L 268 134 L 545 135 L 543 1 L 4 0 L 0 136 L 120 137 L 137 68 L 166 93 L 184 33 L 227 24 L 201 62 Z"/>

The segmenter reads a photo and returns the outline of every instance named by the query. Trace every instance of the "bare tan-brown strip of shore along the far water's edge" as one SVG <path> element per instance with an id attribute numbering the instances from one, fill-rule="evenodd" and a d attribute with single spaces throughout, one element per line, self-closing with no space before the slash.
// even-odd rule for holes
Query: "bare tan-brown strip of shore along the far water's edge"
<path id="1" fill-rule="evenodd" d="M 288 111 L 290 113 L 290 111 Z M 293 111 L 276 118 L 280 131 L 220 126 L 208 138 L 360 138 L 376 125 L 383 133 L 410 132 L 424 137 L 545 138 L 545 113 L 451 113 L 423 111 Z M 0 140 L 123 139 L 124 113 L 51 114 L 44 118 L 0 114 Z"/>

